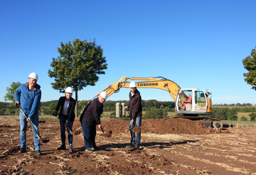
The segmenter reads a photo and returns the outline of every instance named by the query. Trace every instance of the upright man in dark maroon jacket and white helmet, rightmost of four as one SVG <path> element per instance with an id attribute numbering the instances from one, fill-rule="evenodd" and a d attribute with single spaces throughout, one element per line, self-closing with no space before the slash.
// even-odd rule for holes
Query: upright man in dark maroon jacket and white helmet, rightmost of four
<path id="1" fill-rule="evenodd" d="M 142 106 L 141 106 L 141 96 L 140 92 L 137 90 L 136 83 L 132 81 L 130 83 L 130 93 L 129 93 L 129 103 L 124 109 L 130 108 L 132 117 L 130 118 L 130 133 L 131 133 L 131 144 L 126 146 L 126 148 L 140 148 L 140 133 L 137 133 L 137 138 L 135 142 L 135 133 L 132 132 L 133 128 L 140 126 L 141 116 L 142 116 Z"/>

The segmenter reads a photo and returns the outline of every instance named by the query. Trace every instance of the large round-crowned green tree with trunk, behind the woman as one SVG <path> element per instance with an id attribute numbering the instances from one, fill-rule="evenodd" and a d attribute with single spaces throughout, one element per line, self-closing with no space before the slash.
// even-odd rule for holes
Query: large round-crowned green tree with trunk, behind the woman
<path id="1" fill-rule="evenodd" d="M 73 44 L 73 45 L 72 45 Z M 73 42 L 60 43 L 61 48 L 57 48 L 60 56 L 52 58 L 49 70 L 49 77 L 54 78 L 52 88 L 64 92 L 67 87 L 72 87 L 75 91 L 77 104 L 78 91 L 86 86 L 95 86 L 99 80 L 98 75 L 105 74 L 107 61 L 103 57 L 103 50 L 93 42 L 75 39 Z M 77 116 L 77 105 L 75 114 Z"/>

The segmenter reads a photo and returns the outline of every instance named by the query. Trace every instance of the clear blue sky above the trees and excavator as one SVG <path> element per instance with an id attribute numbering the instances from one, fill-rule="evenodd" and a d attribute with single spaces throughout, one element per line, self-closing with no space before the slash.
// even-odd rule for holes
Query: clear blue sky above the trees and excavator
<path id="1" fill-rule="evenodd" d="M 212 103 L 256 103 L 242 60 L 256 46 L 255 0 L 248 1 L 1 1 L 1 95 L 12 82 L 39 76 L 41 101 L 57 100 L 48 70 L 60 42 L 96 39 L 108 69 L 96 86 L 78 91 L 89 100 L 123 75 L 162 76 L 181 88 L 208 89 Z M 173 101 L 160 89 L 142 99 Z M 123 88 L 108 100 L 128 100 Z"/>

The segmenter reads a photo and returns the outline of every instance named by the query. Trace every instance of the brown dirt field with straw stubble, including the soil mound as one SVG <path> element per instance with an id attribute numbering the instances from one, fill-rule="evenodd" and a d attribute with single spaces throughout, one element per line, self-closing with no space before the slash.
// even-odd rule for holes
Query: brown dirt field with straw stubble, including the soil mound
<path id="1" fill-rule="evenodd" d="M 181 118 L 143 120 L 140 149 L 130 143 L 128 120 L 101 120 L 100 151 L 84 151 L 81 124 L 73 126 L 74 153 L 60 146 L 57 121 L 41 121 L 41 156 L 28 126 L 27 152 L 19 154 L 19 118 L 0 117 L 0 174 L 256 174 L 256 128 L 213 130 Z M 112 132 L 112 134 L 110 134 Z M 67 135 L 67 134 L 66 134 Z M 66 140 L 67 148 L 68 141 Z"/>

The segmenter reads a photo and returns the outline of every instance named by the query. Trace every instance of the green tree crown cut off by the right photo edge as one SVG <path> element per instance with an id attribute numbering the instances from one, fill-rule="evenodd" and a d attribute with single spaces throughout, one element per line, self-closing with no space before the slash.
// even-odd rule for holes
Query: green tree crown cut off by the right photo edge
<path id="1" fill-rule="evenodd" d="M 255 46 L 256 49 L 256 46 Z M 244 80 L 247 84 L 252 85 L 252 89 L 256 90 L 256 50 L 252 49 L 251 56 L 243 59 L 244 68 L 249 71 L 244 73 Z"/>

